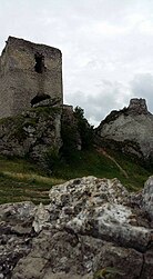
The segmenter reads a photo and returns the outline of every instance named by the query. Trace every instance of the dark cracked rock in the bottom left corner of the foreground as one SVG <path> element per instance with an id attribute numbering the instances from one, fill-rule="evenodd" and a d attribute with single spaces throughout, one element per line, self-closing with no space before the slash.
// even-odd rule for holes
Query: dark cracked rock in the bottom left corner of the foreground
<path id="1" fill-rule="evenodd" d="M 0 206 L 0 278 L 11 278 L 19 259 L 30 252 L 33 216 L 32 202 Z"/>

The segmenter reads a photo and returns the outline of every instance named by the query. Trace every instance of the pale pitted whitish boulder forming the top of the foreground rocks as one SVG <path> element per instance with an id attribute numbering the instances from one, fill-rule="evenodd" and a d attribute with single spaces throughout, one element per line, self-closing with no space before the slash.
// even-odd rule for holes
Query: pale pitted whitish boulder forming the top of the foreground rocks
<path id="1" fill-rule="evenodd" d="M 130 196 L 118 179 L 88 177 L 71 180 L 53 187 L 50 199 L 51 203 L 43 208 L 48 220 L 42 225 L 41 215 L 37 215 L 35 231 L 43 226 L 54 226 L 109 241 L 113 238 L 120 245 L 140 250 L 145 249 L 151 239 L 147 226 L 139 225 L 135 211 L 128 206 Z"/>

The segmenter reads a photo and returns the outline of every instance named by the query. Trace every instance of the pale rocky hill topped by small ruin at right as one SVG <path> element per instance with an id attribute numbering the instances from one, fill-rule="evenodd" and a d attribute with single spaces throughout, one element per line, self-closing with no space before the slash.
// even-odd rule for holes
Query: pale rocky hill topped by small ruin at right
<path id="1" fill-rule="evenodd" d="M 98 127 L 102 140 L 120 150 L 153 163 L 153 114 L 144 99 L 132 99 L 130 106 L 112 111 Z"/>

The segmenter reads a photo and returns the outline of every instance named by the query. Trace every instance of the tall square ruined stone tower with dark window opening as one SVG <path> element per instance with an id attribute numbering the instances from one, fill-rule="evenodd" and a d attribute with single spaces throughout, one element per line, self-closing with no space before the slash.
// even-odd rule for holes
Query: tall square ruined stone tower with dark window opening
<path id="1" fill-rule="evenodd" d="M 0 118 L 43 100 L 63 103 L 61 51 L 9 37 L 0 57 Z"/>

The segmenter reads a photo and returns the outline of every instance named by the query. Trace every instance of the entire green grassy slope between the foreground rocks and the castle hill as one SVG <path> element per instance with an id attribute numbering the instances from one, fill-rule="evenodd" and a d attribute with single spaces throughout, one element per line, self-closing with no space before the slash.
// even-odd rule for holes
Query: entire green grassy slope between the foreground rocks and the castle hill
<path id="1" fill-rule="evenodd" d="M 48 190 L 57 183 L 83 176 L 119 178 L 129 190 L 139 190 L 151 172 L 130 161 L 123 155 L 113 158 L 128 177 L 108 157 L 98 151 L 80 151 L 71 163 L 63 161 L 54 166 L 53 177 L 48 177 L 39 167 L 26 160 L 0 157 L 0 203 L 32 200 L 49 202 Z"/>

